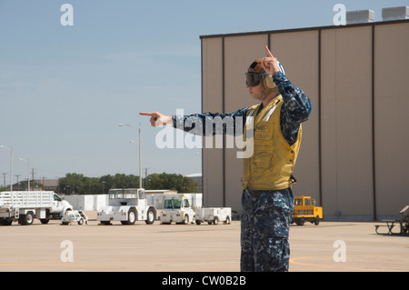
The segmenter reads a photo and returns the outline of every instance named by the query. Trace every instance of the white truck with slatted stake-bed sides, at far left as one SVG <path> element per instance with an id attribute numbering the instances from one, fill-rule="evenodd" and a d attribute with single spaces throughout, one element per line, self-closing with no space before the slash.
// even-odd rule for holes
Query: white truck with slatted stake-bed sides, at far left
<path id="1" fill-rule="evenodd" d="M 32 225 L 61 219 L 73 206 L 52 191 L 4 191 L 0 193 L 0 225 Z"/>

